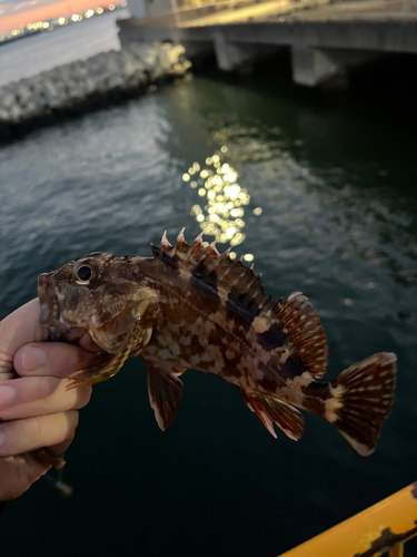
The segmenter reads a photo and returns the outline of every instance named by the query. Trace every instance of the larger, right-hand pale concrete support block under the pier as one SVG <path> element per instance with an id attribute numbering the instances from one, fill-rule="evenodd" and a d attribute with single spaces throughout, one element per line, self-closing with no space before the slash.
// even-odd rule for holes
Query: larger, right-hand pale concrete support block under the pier
<path id="1" fill-rule="evenodd" d="M 347 85 L 347 69 L 380 56 L 366 50 L 292 47 L 292 79 L 298 85 L 316 87 L 334 78 Z"/>

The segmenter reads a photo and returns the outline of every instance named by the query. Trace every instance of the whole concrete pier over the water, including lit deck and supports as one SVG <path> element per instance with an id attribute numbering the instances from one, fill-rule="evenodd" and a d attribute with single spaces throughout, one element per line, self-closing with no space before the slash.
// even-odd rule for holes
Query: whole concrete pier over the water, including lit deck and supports
<path id="1" fill-rule="evenodd" d="M 256 16 L 259 10 L 265 12 L 262 4 L 254 7 L 254 14 L 239 23 L 222 23 L 221 14 L 217 21 L 211 16 L 210 25 L 206 25 L 207 17 L 178 23 L 177 16 L 177 23 L 163 27 L 156 27 L 155 22 L 149 26 L 146 19 L 121 20 L 120 41 L 126 45 L 170 40 L 183 45 L 191 59 L 199 51 L 211 49 L 218 67 L 225 71 L 245 68 L 274 49 L 289 48 L 294 80 L 307 87 L 326 84 L 335 77 L 342 80 L 353 67 L 387 52 L 417 55 L 417 8 L 398 11 L 393 8 L 398 2 L 387 0 L 344 2 L 342 9 L 340 3 L 310 10 L 295 6 L 287 2 L 286 16 L 277 14 L 274 20 L 269 14 L 268 21 Z M 245 10 L 250 13 L 249 8 Z M 226 20 L 230 20 L 230 14 Z"/>

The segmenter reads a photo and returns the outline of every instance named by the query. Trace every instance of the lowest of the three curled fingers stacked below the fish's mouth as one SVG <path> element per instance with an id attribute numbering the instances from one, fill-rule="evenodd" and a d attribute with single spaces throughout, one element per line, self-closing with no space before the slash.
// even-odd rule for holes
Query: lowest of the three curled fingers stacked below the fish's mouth
<path id="1" fill-rule="evenodd" d="M 0 424 L 0 457 L 10 457 L 70 440 L 78 426 L 78 412 L 59 412 Z"/>

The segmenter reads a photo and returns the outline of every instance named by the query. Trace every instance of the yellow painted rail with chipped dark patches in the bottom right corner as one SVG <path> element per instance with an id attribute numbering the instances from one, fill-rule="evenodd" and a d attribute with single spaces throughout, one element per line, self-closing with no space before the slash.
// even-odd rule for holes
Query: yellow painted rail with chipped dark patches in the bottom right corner
<path id="1" fill-rule="evenodd" d="M 397 491 L 280 557 L 353 557 L 368 551 L 373 541 L 387 528 L 394 535 L 413 530 L 417 520 L 417 499 L 411 495 L 413 489 L 417 491 L 417 483 Z M 390 557 L 401 555 L 399 548 L 399 553 L 391 551 Z"/>

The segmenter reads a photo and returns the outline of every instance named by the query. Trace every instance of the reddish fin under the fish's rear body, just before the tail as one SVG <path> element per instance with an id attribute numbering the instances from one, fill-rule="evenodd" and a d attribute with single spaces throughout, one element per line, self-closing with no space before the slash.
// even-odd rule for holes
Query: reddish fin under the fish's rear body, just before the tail
<path id="1" fill-rule="evenodd" d="M 274 430 L 274 423 L 278 426 L 284 433 L 298 441 L 304 433 L 304 416 L 287 402 L 272 397 L 254 395 L 241 391 L 246 403 L 252 412 L 256 412 L 259 420 L 267 428 L 269 433 L 277 438 Z"/>

